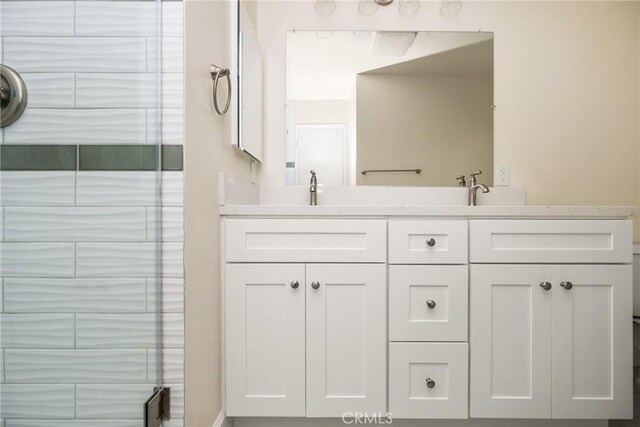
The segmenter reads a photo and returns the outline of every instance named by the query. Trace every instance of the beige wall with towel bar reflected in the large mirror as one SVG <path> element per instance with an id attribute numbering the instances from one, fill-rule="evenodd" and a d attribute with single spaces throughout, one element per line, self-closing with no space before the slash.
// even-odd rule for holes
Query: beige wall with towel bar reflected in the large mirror
<path id="1" fill-rule="evenodd" d="M 483 171 L 493 182 L 493 79 L 489 76 L 361 74 L 357 79 L 358 185 L 455 186 Z"/>

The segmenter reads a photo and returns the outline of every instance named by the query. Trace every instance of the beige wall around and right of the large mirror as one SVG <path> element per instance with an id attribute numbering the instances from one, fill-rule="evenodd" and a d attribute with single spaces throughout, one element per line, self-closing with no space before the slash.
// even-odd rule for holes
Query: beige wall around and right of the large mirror
<path id="1" fill-rule="evenodd" d="M 329 17 L 308 1 L 258 4 L 264 183 L 284 183 L 287 30 L 482 30 L 495 33 L 494 164 L 527 203 L 638 205 L 638 2 L 464 2 L 455 17 L 440 16 L 440 2 L 409 17 L 393 6 L 360 16 L 356 4 L 339 1 Z"/>

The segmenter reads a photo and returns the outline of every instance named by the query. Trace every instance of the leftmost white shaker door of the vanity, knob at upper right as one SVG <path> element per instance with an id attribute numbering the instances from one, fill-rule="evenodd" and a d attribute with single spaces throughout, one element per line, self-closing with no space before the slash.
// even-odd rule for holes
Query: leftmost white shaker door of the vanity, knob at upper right
<path id="1" fill-rule="evenodd" d="M 227 264 L 228 416 L 305 415 L 304 280 L 304 264 Z"/>

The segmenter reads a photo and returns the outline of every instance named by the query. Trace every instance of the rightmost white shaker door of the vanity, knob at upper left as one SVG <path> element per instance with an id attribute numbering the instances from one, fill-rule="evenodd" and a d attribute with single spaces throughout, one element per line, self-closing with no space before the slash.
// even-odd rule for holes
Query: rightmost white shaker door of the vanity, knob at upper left
<path id="1" fill-rule="evenodd" d="M 631 269 L 553 267 L 554 418 L 632 417 Z"/>

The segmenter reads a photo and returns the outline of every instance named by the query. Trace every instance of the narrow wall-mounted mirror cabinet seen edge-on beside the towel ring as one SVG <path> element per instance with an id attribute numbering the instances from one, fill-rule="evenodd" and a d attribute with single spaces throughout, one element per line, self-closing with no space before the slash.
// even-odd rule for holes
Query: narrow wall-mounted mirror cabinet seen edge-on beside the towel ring
<path id="1" fill-rule="evenodd" d="M 262 160 L 262 49 L 257 34 L 257 2 L 239 0 L 233 9 L 232 52 L 237 69 L 237 90 L 232 110 L 232 143 L 257 161 Z"/>

